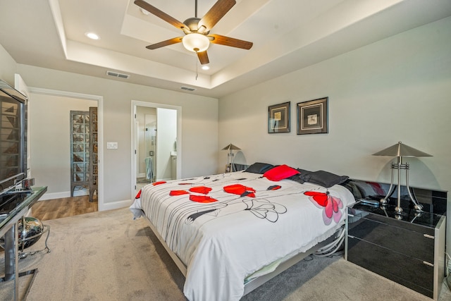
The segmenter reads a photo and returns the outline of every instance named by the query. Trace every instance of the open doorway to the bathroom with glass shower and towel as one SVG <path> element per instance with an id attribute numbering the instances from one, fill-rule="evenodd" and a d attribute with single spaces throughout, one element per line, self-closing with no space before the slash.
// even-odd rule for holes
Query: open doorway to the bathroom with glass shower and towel
<path id="1" fill-rule="evenodd" d="M 132 197 L 144 185 L 180 178 L 181 108 L 132 101 Z"/>

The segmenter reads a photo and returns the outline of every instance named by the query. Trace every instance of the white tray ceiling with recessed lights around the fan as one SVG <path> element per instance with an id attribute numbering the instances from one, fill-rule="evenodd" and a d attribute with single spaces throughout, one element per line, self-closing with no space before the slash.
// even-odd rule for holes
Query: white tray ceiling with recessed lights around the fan
<path id="1" fill-rule="evenodd" d="M 194 0 L 146 1 L 180 22 L 194 17 Z M 197 16 L 215 2 L 198 0 Z M 146 49 L 183 32 L 132 0 L 0 0 L 0 8 L 0 44 L 17 63 L 216 98 L 451 16 L 450 0 L 237 0 L 210 33 L 254 46 L 211 44 L 204 71 L 181 43 Z M 101 39 L 85 37 L 91 31 Z"/>

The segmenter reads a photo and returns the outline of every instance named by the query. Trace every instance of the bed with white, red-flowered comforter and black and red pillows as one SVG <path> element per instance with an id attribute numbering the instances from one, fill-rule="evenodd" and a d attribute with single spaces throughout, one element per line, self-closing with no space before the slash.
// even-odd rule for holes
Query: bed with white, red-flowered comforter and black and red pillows
<path id="1" fill-rule="evenodd" d="M 185 275 L 188 300 L 240 300 L 336 238 L 355 202 L 346 179 L 257 162 L 146 185 L 130 210 Z"/>

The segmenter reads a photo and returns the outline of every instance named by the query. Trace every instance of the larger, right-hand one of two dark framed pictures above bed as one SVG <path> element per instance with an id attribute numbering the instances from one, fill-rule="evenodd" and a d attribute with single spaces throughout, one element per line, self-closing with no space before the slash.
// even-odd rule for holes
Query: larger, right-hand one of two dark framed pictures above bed
<path id="1" fill-rule="evenodd" d="M 297 135 L 328 133 L 328 97 L 297 104 Z"/>

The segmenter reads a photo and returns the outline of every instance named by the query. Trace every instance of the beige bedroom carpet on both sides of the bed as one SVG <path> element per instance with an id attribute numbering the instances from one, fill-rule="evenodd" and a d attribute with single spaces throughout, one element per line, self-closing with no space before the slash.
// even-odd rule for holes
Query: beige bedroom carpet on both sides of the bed
<path id="1" fill-rule="evenodd" d="M 27 300 L 185 300 L 182 274 L 147 221 L 133 221 L 128 209 L 44 223 L 51 226 L 51 252 L 19 262 L 20 271 L 38 268 Z M 41 238 L 27 251 L 43 247 Z M 20 277 L 21 295 L 30 278 Z M 11 288 L 11 283 L 0 283 L 0 300 L 12 300 Z M 243 298 L 251 300 L 431 299 L 344 259 L 315 257 Z M 445 300 L 451 300 L 451 293 L 443 285 L 440 301 Z"/>

